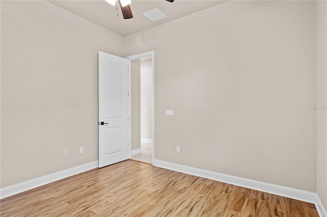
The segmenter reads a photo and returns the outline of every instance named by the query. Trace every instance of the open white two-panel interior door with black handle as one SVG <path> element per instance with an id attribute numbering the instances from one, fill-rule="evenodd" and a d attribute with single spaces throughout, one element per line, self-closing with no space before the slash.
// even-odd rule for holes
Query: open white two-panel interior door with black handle
<path id="1" fill-rule="evenodd" d="M 129 60 L 99 51 L 99 168 L 128 159 Z"/>

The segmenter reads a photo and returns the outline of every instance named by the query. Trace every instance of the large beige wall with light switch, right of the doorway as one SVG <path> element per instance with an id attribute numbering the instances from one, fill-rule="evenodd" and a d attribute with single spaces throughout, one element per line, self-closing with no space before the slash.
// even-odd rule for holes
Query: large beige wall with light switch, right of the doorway
<path id="1" fill-rule="evenodd" d="M 315 192 L 315 31 L 314 2 L 232 1 L 126 36 L 155 50 L 155 158 Z"/>

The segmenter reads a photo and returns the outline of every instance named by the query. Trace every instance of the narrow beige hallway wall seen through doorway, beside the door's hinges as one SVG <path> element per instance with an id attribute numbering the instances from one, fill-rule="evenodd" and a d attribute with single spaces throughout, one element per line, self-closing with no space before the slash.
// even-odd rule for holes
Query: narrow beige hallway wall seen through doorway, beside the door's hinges
<path id="1" fill-rule="evenodd" d="M 141 59 L 131 61 L 132 150 L 141 148 Z"/>

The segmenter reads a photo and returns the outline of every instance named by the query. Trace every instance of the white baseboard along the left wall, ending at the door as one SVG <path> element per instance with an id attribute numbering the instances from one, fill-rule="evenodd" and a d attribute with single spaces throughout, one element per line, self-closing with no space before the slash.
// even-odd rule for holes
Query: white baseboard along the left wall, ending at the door
<path id="1" fill-rule="evenodd" d="M 77 167 L 69 168 L 56 173 L 31 179 L 25 182 L 20 182 L 7 187 L 2 187 L 0 189 L 0 198 L 3 199 L 21 192 L 25 192 L 29 189 L 39 187 L 41 185 L 48 184 L 54 181 L 58 181 L 60 179 L 67 178 L 69 176 L 73 176 L 97 167 L 98 167 L 98 160 L 89 162 L 88 164 L 80 165 Z"/>

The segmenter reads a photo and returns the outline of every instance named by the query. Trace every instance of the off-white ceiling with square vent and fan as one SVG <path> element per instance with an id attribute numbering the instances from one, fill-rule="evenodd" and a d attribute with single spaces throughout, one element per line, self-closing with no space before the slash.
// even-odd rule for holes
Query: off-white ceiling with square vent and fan
<path id="1" fill-rule="evenodd" d="M 118 8 L 119 16 L 117 17 L 116 7 L 113 7 L 104 0 L 50 0 L 49 2 L 91 22 L 97 23 L 121 36 L 126 36 L 227 1 L 175 0 L 175 2 L 170 3 L 165 0 L 132 0 L 132 4 L 130 5 L 134 16 L 132 19 L 123 19 L 120 8 Z M 154 8 L 158 8 L 160 11 L 164 12 L 168 18 L 152 22 L 142 15 L 142 13 L 150 11 Z"/>

